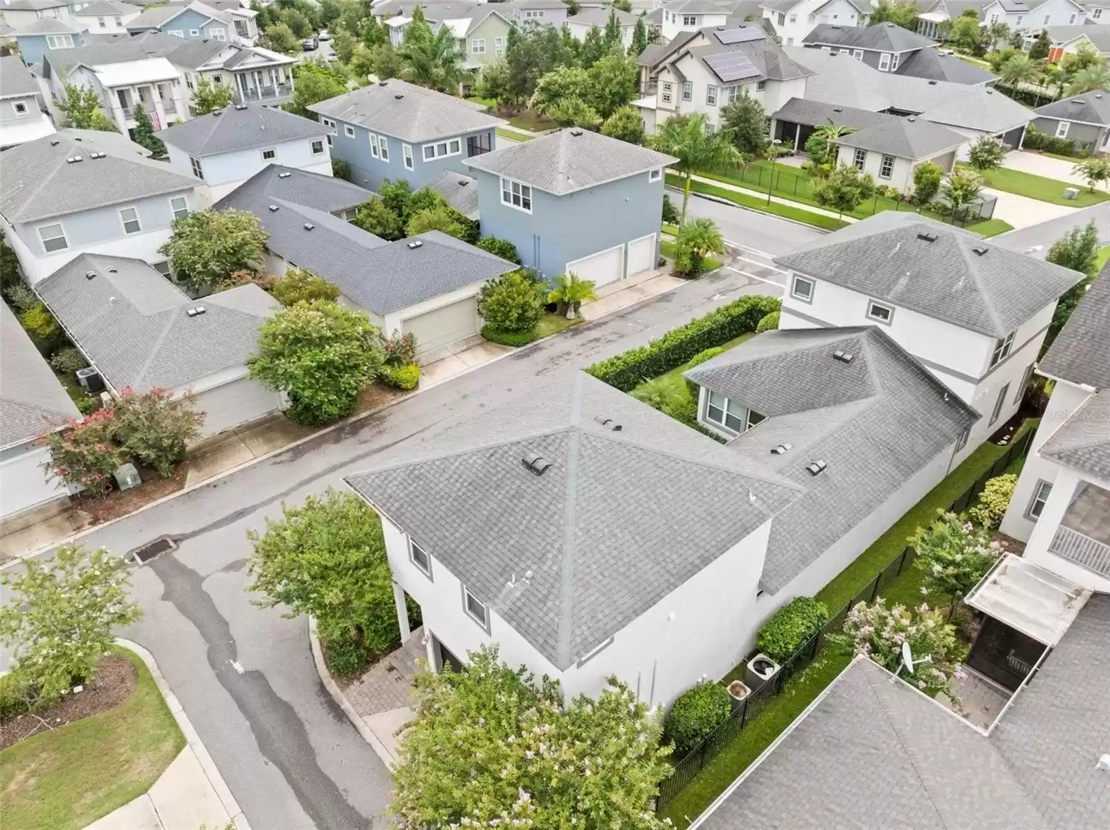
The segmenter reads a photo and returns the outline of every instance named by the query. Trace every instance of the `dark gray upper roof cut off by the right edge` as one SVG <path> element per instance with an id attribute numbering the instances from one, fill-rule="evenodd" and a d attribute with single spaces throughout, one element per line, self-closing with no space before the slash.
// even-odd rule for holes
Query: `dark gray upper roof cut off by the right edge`
<path id="1" fill-rule="evenodd" d="M 1071 383 L 1110 389 L 1110 265 L 1087 290 L 1038 368 Z"/>

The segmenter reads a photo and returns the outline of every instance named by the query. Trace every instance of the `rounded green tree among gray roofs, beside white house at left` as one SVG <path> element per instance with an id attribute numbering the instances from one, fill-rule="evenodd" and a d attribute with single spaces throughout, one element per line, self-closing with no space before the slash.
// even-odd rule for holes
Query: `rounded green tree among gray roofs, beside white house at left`
<path id="1" fill-rule="evenodd" d="M 262 260 L 269 234 L 246 211 L 194 211 L 173 221 L 170 241 L 158 251 L 173 264 L 174 276 L 195 292 L 229 287 L 232 274 Z"/>

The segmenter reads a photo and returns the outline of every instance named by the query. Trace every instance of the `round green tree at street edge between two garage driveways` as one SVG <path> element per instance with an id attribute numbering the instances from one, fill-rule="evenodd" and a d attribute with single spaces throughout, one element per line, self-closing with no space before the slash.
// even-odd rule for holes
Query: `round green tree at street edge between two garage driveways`
<path id="1" fill-rule="evenodd" d="M 262 324 L 251 377 L 289 394 L 286 414 L 301 424 L 350 415 L 384 355 L 377 328 L 336 303 L 297 303 Z"/>

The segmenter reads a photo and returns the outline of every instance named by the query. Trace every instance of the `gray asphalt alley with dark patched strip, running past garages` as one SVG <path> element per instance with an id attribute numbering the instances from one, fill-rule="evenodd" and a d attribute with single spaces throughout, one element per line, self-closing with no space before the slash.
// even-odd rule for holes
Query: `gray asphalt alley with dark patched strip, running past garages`
<path id="1" fill-rule="evenodd" d="M 716 212 L 717 205 L 694 210 Z M 727 219 L 726 234 L 758 236 L 766 253 L 813 235 L 795 225 L 773 230 L 768 223 L 775 220 L 733 212 L 738 215 Z M 299 503 L 342 487 L 342 475 L 379 454 L 404 452 L 457 419 L 646 343 L 745 293 L 780 291 L 739 271 L 703 277 L 81 538 L 89 548 L 120 555 L 161 536 L 176 540 L 174 553 L 135 569 L 133 594 L 145 615 L 122 634 L 153 652 L 254 828 L 385 827 L 391 782 L 320 684 L 306 620 L 259 608 L 244 593 L 246 530 L 263 528 L 283 499 Z"/>

